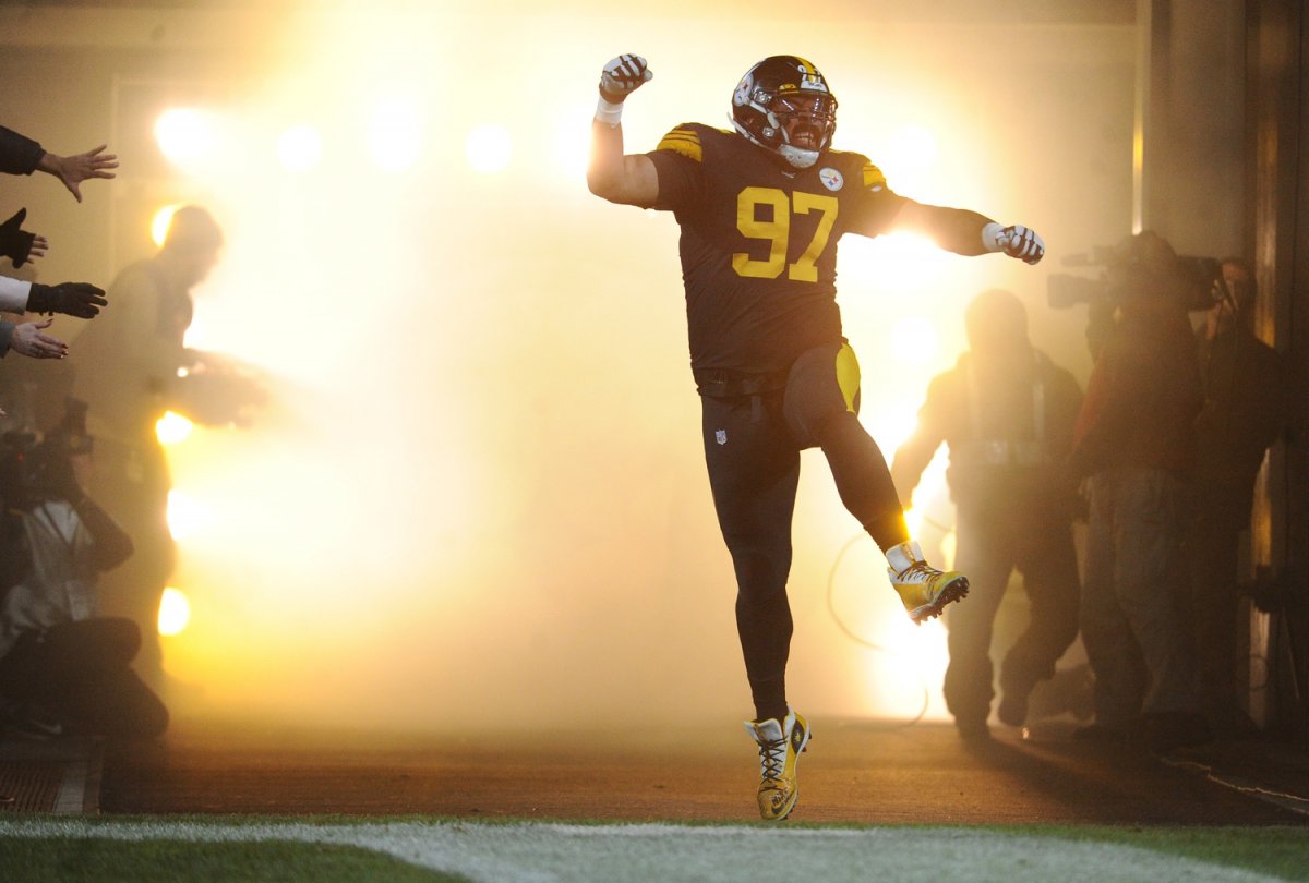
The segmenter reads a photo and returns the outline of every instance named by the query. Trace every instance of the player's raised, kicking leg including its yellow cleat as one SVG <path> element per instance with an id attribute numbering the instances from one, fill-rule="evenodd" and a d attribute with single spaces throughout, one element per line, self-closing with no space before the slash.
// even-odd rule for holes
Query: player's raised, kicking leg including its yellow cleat
<path id="1" fill-rule="evenodd" d="M 791 368 L 787 425 L 801 447 L 821 447 L 846 509 L 886 553 L 888 576 L 915 623 L 940 616 L 969 591 L 961 573 L 923 560 L 908 536 L 886 458 L 859 423 L 859 360 L 848 344 L 816 347 Z"/>

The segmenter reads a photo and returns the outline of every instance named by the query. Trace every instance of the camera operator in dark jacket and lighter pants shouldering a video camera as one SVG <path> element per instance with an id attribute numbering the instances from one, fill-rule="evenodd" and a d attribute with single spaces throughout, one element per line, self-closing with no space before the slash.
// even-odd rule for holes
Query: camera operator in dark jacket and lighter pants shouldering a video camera
<path id="1" fill-rule="evenodd" d="M 1183 493 L 1203 392 L 1186 306 L 1196 286 L 1156 233 L 1107 266 L 1109 330 L 1077 416 L 1071 466 L 1090 496 L 1081 633 L 1096 722 L 1081 738 L 1156 751 L 1208 740 L 1182 617 Z"/>

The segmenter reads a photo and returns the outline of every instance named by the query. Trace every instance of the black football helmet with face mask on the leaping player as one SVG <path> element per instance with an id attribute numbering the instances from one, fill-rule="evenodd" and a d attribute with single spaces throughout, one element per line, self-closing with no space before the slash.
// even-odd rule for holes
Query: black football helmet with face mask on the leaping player
<path id="1" fill-rule="evenodd" d="M 808 169 L 831 147 L 836 97 L 812 63 L 795 55 L 770 55 L 737 84 L 732 126 L 796 169 Z"/>

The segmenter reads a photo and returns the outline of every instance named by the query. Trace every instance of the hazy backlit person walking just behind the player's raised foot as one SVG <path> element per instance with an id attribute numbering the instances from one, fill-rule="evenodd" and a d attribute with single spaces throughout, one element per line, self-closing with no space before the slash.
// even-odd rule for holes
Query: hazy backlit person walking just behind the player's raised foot
<path id="1" fill-rule="evenodd" d="M 1004 723 L 1022 726 L 1031 689 L 1077 637 L 1077 489 L 1064 464 L 1081 389 L 1031 347 L 1026 309 L 1012 293 L 983 292 L 965 324 L 969 352 L 932 379 L 891 476 L 907 500 L 936 449 L 949 446 L 956 566 L 971 576 L 973 598 L 946 614 L 945 704 L 965 739 L 984 739 L 995 696 L 991 633 L 1011 572 L 1022 574 L 1031 616 L 1000 668 Z"/>

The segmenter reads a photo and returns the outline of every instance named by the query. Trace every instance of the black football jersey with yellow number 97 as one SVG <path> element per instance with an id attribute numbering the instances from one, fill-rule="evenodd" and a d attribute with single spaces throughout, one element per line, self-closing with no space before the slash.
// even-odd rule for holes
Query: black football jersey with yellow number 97
<path id="1" fill-rule="evenodd" d="M 789 169 L 736 132 L 683 123 L 648 154 L 681 225 L 691 368 L 763 374 L 842 340 L 836 243 L 885 232 L 905 198 L 867 157 Z"/>

